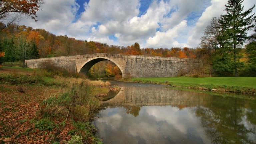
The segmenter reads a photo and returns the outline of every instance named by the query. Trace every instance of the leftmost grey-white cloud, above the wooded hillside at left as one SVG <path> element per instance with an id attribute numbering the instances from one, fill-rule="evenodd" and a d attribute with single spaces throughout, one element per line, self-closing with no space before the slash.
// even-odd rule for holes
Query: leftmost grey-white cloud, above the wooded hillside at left
<path id="1" fill-rule="evenodd" d="M 75 0 L 45 0 L 45 4 L 41 7 L 42 10 L 37 12 L 38 22 L 30 17 L 23 17 L 19 24 L 65 35 L 67 34 L 66 27 L 74 20 L 78 8 L 79 5 Z"/>

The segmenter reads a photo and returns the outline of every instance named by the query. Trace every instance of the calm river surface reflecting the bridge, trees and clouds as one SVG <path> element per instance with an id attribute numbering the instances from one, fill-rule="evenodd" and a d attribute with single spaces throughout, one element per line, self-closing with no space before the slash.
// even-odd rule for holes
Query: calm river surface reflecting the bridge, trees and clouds
<path id="1" fill-rule="evenodd" d="M 94 121 L 111 144 L 255 144 L 256 101 L 170 87 L 111 81 L 122 87 Z"/>

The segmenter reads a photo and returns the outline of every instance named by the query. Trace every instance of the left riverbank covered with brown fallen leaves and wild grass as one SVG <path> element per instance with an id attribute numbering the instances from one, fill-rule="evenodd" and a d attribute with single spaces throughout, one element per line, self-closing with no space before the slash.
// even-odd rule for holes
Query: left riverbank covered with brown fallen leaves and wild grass
<path id="1" fill-rule="evenodd" d="M 0 68 L 0 143 L 102 143 L 91 121 L 109 82 Z"/>

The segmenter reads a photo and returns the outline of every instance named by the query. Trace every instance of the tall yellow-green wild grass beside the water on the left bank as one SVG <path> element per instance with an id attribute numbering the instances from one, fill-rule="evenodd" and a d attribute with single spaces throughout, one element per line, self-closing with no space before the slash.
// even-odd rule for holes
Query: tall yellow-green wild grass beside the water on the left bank
<path id="1" fill-rule="evenodd" d="M 103 83 L 104 85 L 104 83 Z M 92 137 L 92 124 L 86 124 L 93 118 L 95 111 L 101 107 L 101 102 L 95 97 L 98 93 L 108 93 L 108 89 L 99 86 L 92 86 L 87 81 L 73 83 L 70 88 L 45 99 L 38 112 L 42 119 L 66 118 L 75 121 L 75 124 L 82 124 L 86 132 L 78 129 L 82 140 Z M 99 139 L 95 139 L 100 142 Z M 74 141 L 72 139 L 71 141 Z M 71 142 L 70 142 L 71 143 Z"/>

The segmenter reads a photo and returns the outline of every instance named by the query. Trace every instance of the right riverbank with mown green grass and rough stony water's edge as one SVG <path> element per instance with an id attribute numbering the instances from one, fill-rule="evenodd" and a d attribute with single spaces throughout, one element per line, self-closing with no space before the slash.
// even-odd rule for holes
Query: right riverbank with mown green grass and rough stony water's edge
<path id="1" fill-rule="evenodd" d="M 256 95 L 256 77 L 170 77 L 132 78 L 124 81 L 169 85 L 174 87 L 216 92 Z"/>

